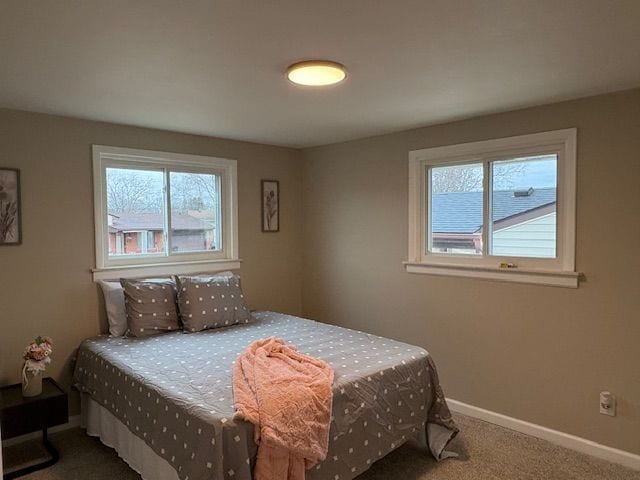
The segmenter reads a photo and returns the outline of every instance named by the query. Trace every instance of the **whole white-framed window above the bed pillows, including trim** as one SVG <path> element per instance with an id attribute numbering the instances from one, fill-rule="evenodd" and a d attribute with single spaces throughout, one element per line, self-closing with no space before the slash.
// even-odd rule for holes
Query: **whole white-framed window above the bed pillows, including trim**
<path id="1" fill-rule="evenodd" d="M 94 278 L 238 268 L 235 160 L 94 145 Z"/>

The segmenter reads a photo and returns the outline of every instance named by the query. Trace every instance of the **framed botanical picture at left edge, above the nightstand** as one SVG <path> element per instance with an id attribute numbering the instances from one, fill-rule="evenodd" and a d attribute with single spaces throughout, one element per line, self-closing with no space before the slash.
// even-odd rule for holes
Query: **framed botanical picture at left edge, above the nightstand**
<path id="1" fill-rule="evenodd" d="M 22 244 L 20 170 L 0 167 L 0 246 Z"/>

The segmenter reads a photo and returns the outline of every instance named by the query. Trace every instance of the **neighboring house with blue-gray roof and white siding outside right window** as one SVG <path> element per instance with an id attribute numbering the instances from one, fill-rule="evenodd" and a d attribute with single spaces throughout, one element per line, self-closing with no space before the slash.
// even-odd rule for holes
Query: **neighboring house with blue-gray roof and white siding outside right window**
<path id="1" fill-rule="evenodd" d="M 433 251 L 482 251 L 482 197 L 482 192 L 432 196 Z M 555 188 L 494 192 L 492 210 L 493 255 L 555 257 Z"/>

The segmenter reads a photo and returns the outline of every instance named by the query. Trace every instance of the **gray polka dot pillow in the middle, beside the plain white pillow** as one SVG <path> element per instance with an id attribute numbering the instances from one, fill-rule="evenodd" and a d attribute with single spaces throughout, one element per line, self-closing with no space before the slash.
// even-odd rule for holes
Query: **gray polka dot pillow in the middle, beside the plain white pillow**
<path id="1" fill-rule="evenodd" d="M 180 329 L 175 282 L 122 278 L 128 335 L 148 337 Z"/>

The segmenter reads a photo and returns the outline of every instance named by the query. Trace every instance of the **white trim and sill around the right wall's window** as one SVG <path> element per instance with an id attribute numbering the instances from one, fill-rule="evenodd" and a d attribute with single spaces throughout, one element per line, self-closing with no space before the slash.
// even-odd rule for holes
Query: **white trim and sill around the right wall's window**
<path id="1" fill-rule="evenodd" d="M 409 252 L 403 262 L 408 273 L 463 276 L 519 283 L 577 288 L 575 272 L 576 211 L 575 128 L 495 140 L 427 148 L 409 152 Z M 487 162 L 539 153 L 558 155 L 557 258 L 437 254 L 427 252 L 427 183 L 429 166 Z M 485 222 L 488 208 L 485 206 Z M 500 268 L 513 263 L 516 268 Z"/>

